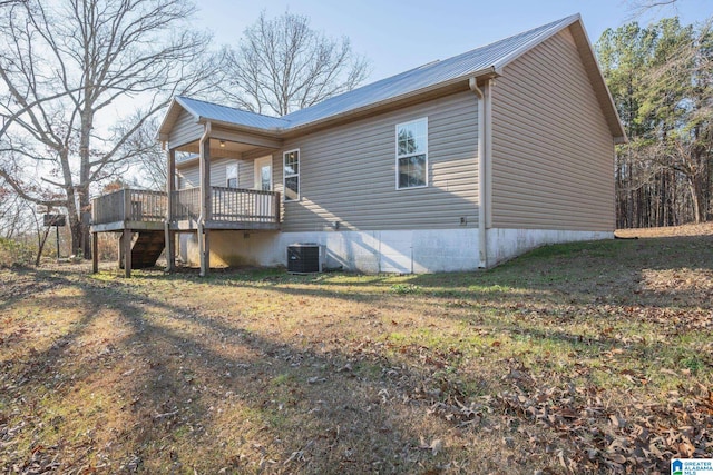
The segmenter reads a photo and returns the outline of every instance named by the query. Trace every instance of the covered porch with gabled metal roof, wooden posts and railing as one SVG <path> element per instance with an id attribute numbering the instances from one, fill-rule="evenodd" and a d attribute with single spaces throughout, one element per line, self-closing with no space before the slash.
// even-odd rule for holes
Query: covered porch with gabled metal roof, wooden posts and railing
<path id="1" fill-rule="evenodd" d="M 277 133 L 281 122 L 194 99 L 174 99 L 158 130 L 166 150 L 167 270 L 175 266 L 177 232 L 195 234 L 205 276 L 211 268 L 211 231 L 280 230 L 282 199 L 273 188 L 272 155 L 283 145 Z M 180 155 L 191 158 L 177 162 Z M 253 180 L 213 179 L 218 160 L 255 164 Z M 264 164 L 261 170 L 258 162 Z M 195 171 L 193 182 L 178 179 L 178 169 L 188 167 Z"/>

